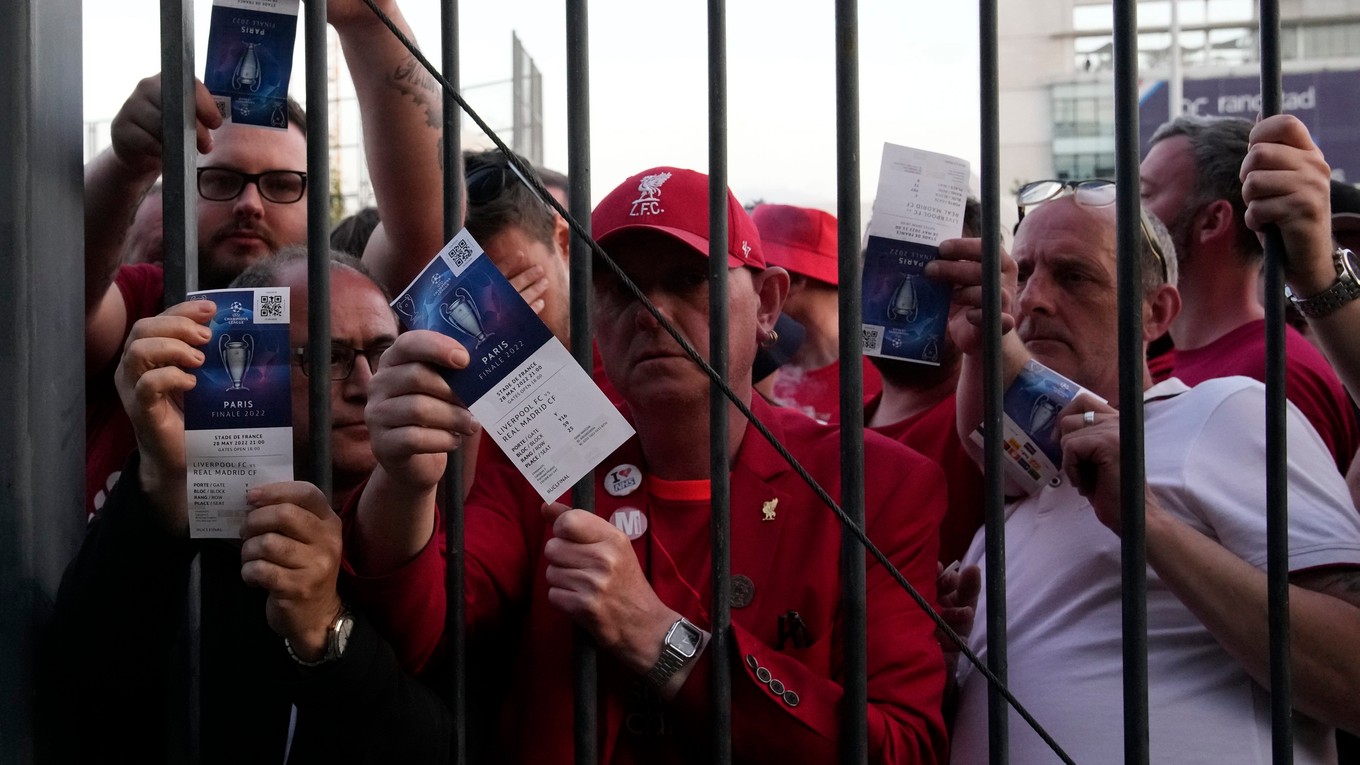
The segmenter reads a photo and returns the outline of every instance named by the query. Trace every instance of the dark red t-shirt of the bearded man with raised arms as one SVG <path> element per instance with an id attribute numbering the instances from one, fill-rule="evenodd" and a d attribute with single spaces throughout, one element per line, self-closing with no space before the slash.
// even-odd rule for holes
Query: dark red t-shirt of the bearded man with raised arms
<path id="1" fill-rule="evenodd" d="M 113 283 L 128 306 L 128 325 L 122 331 L 126 342 L 132 323 L 160 313 L 165 302 L 165 270 L 158 263 L 124 265 L 113 276 Z M 103 369 L 86 373 L 86 516 L 103 506 L 105 495 L 118 481 L 128 456 L 137 448 L 132 421 L 122 411 L 118 391 L 113 387 L 113 373 L 118 369 L 120 354 Z"/>

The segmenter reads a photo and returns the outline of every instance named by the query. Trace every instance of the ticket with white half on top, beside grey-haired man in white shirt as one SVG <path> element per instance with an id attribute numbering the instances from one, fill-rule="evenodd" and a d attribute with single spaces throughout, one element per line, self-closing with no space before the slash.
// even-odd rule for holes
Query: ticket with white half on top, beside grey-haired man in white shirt
<path id="1" fill-rule="evenodd" d="M 883 144 L 861 280 L 865 354 L 940 365 L 952 289 L 921 271 L 963 233 L 967 199 L 966 161 Z"/>

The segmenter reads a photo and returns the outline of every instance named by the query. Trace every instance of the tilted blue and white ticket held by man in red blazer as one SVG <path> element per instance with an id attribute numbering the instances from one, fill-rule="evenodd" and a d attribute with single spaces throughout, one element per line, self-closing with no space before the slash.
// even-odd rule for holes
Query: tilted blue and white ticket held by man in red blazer
<path id="1" fill-rule="evenodd" d="M 445 377 L 545 502 L 632 436 L 577 359 L 496 270 L 466 229 L 392 301 L 409 329 L 468 348 Z"/>

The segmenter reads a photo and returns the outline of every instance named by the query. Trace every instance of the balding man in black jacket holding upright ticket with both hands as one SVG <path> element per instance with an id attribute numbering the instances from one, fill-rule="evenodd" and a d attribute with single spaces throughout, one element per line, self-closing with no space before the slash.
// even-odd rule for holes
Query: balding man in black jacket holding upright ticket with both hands
<path id="1" fill-rule="evenodd" d="M 374 623 L 341 603 L 341 524 L 311 483 L 307 253 L 286 248 L 233 287 L 290 289 L 296 482 L 253 487 L 243 543 L 190 540 L 180 395 L 203 363 L 209 301 L 137 321 L 116 382 L 137 453 L 95 516 L 63 580 L 53 628 L 52 698 L 92 715 L 56 742 L 63 761 L 163 761 L 188 700 L 171 659 L 189 561 L 201 554 L 200 740 L 205 762 L 445 762 L 450 719 L 401 672 Z M 388 295 L 363 264 L 332 253 L 330 455 L 336 506 L 373 470 L 363 410 L 396 340 Z M 317 306 L 322 308 L 324 306 Z M 466 411 L 462 410 L 466 415 Z M 471 415 L 468 415 L 471 419 Z M 91 649 L 91 640 L 98 649 Z M 292 711 L 290 712 L 290 706 Z"/>

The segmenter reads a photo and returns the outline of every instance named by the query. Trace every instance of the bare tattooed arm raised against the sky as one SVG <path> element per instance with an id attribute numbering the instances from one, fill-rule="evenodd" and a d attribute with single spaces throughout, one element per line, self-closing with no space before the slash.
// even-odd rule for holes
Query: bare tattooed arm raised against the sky
<path id="1" fill-rule="evenodd" d="M 377 5 L 415 41 L 396 0 Z M 330 0 L 326 14 L 359 98 L 381 216 L 363 260 L 396 294 L 443 245 L 443 101 L 435 80 L 362 0 Z"/>

